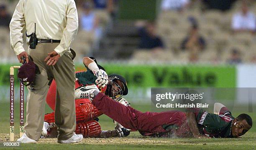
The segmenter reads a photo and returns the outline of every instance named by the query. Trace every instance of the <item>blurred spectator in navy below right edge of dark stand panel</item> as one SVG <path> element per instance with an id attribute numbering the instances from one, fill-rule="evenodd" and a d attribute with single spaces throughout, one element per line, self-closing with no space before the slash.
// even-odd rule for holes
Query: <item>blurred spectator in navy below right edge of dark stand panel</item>
<path id="1" fill-rule="evenodd" d="M 154 22 L 141 22 L 137 23 L 136 26 L 139 28 L 138 32 L 139 36 L 141 37 L 139 48 L 155 50 L 161 50 L 164 48 L 161 38 L 156 35 L 156 27 Z"/>

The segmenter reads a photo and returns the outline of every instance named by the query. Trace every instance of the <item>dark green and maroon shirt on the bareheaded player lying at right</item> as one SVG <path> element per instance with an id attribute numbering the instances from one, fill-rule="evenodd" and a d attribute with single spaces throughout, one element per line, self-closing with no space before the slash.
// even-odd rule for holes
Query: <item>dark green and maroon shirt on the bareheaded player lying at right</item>
<path id="1" fill-rule="evenodd" d="M 222 107 L 219 115 L 208 113 L 202 109 L 194 109 L 197 126 L 201 134 L 214 138 L 233 138 L 231 125 L 234 117 L 227 107 Z"/>

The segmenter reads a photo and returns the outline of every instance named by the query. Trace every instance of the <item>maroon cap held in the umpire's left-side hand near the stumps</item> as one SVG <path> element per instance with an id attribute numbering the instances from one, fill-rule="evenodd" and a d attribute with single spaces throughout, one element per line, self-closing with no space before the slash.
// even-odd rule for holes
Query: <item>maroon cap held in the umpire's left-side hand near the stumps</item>
<path id="1" fill-rule="evenodd" d="M 24 63 L 18 70 L 18 78 L 21 82 L 28 82 L 24 84 L 26 86 L 30 85 L 36 77 L 36 65 L 33 61 L 29 60 L 28 63 Z"/>

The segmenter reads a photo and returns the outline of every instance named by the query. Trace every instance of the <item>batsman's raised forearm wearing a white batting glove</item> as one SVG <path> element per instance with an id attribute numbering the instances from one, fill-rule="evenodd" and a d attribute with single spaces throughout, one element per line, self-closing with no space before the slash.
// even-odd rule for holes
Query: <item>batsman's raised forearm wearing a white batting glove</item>
<path id="1" fill-rule="evenodd" d="M 84 57 L 83 63 L 88 69 L 92 70 L 93 74 L 97 77 L 95 82 L 98 87 L 103 88 L 108 85 L 108 74 L 104 70 L 99 69 L 97 63 L 94 60 L 89 57 Z"/>

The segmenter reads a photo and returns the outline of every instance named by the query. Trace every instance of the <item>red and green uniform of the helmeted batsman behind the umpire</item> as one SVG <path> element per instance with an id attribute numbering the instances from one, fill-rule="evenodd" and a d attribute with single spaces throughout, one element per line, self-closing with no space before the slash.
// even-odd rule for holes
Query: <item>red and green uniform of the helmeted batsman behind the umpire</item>
<path id="1" fill-rule="evenodd" d="M 95 80 L 97 79 L 91 71 L 79 71 L 76 72 L 76 81 L 75 88 L 80 86 L 96 84 Z M 100 89 L 102 92 L 105 92 L 107 87 Z M 49 87 L 46 102 L 51 107 L 52 110 L 55 110 L 55 101 L 56 101 L 56 82 L 52 81 L 51 86 Z M 81 105 L 83 104 L 83 105 Z M 99 122 L 96 120 L 97 117 L 102 115 L 100 111 L 97 110 L 95 106 L 92 105 L 88 99 L 75 99 L 76 106 L 76 121 L 77 126 L 75 133 L 82 134 L 84 138 L 87 137 L 98 137 L 101 133 L 101 128 Z M 55 128 L 55 118 L 54 112 L 46 114 L 44 118 L 45 122 L 50 124 L 50 128 Z M 54 135 L 51 130 L 49 135 Z"/>

